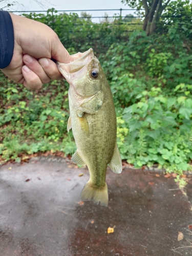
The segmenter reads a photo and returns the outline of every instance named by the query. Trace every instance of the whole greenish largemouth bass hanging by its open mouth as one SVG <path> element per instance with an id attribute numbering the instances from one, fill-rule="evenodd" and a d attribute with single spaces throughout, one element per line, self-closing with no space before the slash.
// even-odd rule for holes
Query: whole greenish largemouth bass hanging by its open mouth
<path id="1" fill-rule="evenodd" d="M 81 192 L 81 200 L 108 206 L 108 165 L 116 174 L 122 161 L 116 143 L 117 119 L 113 95 L 93 49 L 71 55 L 70 63 L 57 67 L 70 84 L 68 132 L 72 128 L 77 151 L 72 161 L 87 165 L 90 179 Z"/>

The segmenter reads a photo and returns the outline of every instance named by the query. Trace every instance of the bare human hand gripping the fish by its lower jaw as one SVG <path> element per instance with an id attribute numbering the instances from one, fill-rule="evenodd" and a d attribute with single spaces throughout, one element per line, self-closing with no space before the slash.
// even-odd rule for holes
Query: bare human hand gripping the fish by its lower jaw
<path id="1" fill-rule="evenodd" d="M 14 53 L 2 71 L 13 81 L 33 90 L 62 75 L 51 58 L 69 63 L 73 58 L 57 34 L 45 24 L 10 13 L 14 29 Z"/>

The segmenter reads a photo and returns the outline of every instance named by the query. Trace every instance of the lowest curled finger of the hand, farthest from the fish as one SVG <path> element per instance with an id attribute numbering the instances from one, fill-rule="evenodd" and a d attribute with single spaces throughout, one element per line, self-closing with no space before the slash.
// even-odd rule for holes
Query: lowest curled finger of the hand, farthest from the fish
<path id="1" fill-rule="evenodd" d="M 23 85 L 31 90 L 39 90 L 42 87 L 40 78 L 27 66 L 23 66 L 22 73 L 25 78 Z"/>

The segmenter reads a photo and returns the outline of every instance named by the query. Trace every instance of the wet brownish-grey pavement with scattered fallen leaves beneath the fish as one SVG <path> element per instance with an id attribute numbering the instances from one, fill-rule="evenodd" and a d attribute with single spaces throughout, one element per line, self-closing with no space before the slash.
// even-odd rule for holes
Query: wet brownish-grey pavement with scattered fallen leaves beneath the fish
<path id="1" fill-rule="evenodd" d="M 172 177 L 109 169 L 104 207 L 80 201 L 88 180 L 87 168 L 56 157 L 2 166 L 0 256 L 192 255 L 192 183 L 187 197 Z"/>

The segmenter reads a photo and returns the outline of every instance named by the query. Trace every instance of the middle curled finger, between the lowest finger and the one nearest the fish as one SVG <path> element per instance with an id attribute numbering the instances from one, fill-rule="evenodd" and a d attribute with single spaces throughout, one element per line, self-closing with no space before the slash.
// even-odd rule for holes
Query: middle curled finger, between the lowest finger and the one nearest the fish
<path id="1" fill-rule="evenodd" d="M 39 77 L 42 83 L 48 83 L 50 81 L 50 77 L 46 74 L 44 69 L 40 66 L 37 59 L 26 54 L 23 57 L 23 61 L 25 65 Z"/>

